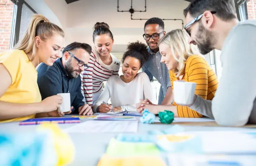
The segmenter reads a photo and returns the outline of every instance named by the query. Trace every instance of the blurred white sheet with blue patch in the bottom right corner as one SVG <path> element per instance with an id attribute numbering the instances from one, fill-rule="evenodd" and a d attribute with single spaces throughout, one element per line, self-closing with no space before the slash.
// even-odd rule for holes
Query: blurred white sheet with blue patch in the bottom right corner
<path id="1" fill-rule="evenodd" d="M 196 155 L 168 154 L 171 166 L 252 166 L 256 162 L 254 155 Z M 185 159 L 185 160 L 184 160 Z"/>

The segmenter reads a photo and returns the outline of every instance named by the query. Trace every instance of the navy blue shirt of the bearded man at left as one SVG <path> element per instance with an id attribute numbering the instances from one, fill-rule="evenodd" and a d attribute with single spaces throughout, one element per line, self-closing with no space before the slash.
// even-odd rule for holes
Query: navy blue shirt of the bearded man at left
<path id="1" fill-rule="evenodd" d="M 78 108 L 85 104 L 81 93 L 81 78 L 69 77 L 62 65 L 62 58 L 56 60 L 53 66 L 42 63 L 37 68 L 37 73 L 37 84 L 42 100 L 58 93 L 70 93 L 70 103 L 74 107 L 72 113 L 78 113 Z"/>

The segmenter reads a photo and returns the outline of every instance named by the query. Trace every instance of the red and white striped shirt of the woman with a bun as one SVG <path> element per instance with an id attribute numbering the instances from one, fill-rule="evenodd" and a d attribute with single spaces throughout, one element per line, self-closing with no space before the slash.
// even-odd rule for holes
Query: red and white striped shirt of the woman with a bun
<path id="1" fill-rule="evenodd" d="M 93 47 L 88 63 L 89 68 L 82 72 L 81 76 L 81 91 L 84 94 L 85 101 L 88 105 L 92 105 L 92 94 L 103 90 L 103 82 L 107 81 L 110 76 L 118 75 L 120 61 L 110 53 L 112 63 L 105 65 L 97 50 Z"/>

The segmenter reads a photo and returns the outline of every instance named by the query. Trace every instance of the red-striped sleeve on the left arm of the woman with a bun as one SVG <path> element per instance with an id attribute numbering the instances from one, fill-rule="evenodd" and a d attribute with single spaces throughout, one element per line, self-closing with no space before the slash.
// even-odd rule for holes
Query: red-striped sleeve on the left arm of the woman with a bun
<path id="1" fill-rule="evenodd" d="M 84 97 L 85 97 L 85 101 L 88 105 L 92 105 L 92 73 L 93 73 L 93 68 L 94 68 L 94 64 L 96 62 L 96 57 L 93 53 L 91 53 L 90 55 L 90 60 L 88 63 L 89 68 L 85 69 L 83 71 L 83 86 L 82 86 L 82 90 L 84 92 Z"/>

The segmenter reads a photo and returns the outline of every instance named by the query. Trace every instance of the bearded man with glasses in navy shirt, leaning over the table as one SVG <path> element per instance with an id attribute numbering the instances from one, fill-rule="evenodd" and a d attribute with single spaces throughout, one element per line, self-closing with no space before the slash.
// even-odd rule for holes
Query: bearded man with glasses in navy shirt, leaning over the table
<path id="1" fill-rule="evenodd" d="M 90 45 L 74 42 L 63 49 L 62 58 L 57 59 L 53 66 L 41 64 L 37 68 L 37 83 L 42 99 L 58 93 L 70 93 L 71 111 L 65 112 L 66 114 L 93 114 L 91 106 L 83 101 L 80 78 L 80 73 L 88 68 L 91 52 Z"/>

